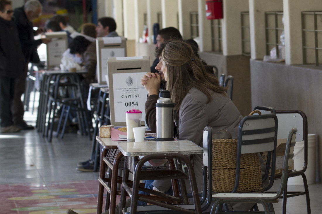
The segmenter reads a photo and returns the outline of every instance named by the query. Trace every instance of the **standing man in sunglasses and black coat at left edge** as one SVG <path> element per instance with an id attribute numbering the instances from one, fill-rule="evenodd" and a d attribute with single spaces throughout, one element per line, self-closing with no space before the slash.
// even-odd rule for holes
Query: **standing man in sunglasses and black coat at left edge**
<path id="1" fill-rule="evenodd" d="M 25 66 L 18 30 L 12 18 L 11 1 L 0 0 L 0 132 L 19 132 L 12 121 L 11 103 L 15 78 Z"/>

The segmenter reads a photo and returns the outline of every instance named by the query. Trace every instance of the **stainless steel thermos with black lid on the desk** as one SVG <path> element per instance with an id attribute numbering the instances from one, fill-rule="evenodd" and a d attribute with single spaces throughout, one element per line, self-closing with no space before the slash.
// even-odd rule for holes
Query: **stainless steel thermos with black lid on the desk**
<path id="1" fill-rule="evenodd" d="M 156 138 L 155 141 L 173 141 L 173 109 L 175 104 L 170 91 L 161 90 L 156 106 Z"/>

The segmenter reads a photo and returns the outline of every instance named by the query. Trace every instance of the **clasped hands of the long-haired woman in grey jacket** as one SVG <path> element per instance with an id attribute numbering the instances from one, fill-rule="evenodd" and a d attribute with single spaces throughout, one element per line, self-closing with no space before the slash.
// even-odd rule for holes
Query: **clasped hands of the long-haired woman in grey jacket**
<path id="1" fill-rule="evenodd" d="M 158 73 L 148 72 L 143 75 L 140 83 L 147 90 L 149 96 L 152 94 L 158 95 L 161 83 L 161 76 Z"/>

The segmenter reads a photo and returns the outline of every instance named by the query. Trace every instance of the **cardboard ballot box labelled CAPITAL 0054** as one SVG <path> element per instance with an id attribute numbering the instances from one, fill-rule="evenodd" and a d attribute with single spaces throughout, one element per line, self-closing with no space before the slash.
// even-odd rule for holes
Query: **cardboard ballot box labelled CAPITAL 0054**
<path id="1" fill-rule="evenodd" d="M 147 90 L 140 84 L 140 79 L 150 72 L 150 57 L 113 57 L 107 60 L 107 67 L 111 124 L 126 126 L 125 112 L 139 109 L 142 111 L 141 125 L 144 125 Z"/>

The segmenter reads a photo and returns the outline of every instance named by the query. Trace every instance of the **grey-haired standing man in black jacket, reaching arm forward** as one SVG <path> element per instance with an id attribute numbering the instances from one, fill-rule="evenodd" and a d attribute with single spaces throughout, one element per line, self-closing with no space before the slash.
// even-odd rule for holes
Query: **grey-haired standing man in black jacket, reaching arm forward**
<path id="1" fill-rule="evenodd" d="M 24 93 L 26 85 L 26 76 L 28 72 L 28 63 L 39 62 L 39 56 L 37 53 L 37 46 L 42 43 L 48 44 L 50 39 L 38 39 L 34 40 L 33 37 L 36 31 L 33 30 L 32 21 L 38 18 L 43 10 L 43 6 L 38 0 L 28 0 L 24 6 L 16 8 L 14 10 L 15 23 L 19 32 L 19 39 L 24 53 L 24 59 L 26 61 L 24 72 L 16 79 L 14 89 L 14 100 L 11 107 L 14 125 L 21 129 L 33 129 L 33 126 L 27 125 L 24 121 L 24 104 L 21 101 L 21 95 Z"/>

